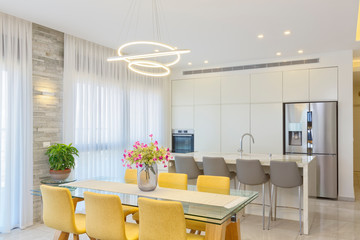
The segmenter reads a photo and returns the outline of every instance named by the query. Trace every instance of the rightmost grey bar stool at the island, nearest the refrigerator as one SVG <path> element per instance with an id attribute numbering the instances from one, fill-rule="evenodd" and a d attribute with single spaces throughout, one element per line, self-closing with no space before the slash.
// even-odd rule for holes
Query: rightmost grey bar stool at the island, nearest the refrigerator
<path id="1" fill-rule="evenodd" d="M 270 201 L 268 229 L 270 229 L 270 216 L 272 213 L 272 205 L 273 205 L 273 199 L 274 199 L 274 186 L 275 186 L 275 188 L 277 188 L 277 187 L 281 187 L 281 188 L 298 187 L 298 190 L 299 190 L 299 223 L 300 223 L 300 234 L 302 234 L 301 186 L 303 184 L 303 178 L 300 175 L 297 164 L 295 162 L 270 161 L 270 179 L 271 179 L 271 201 Z"/>

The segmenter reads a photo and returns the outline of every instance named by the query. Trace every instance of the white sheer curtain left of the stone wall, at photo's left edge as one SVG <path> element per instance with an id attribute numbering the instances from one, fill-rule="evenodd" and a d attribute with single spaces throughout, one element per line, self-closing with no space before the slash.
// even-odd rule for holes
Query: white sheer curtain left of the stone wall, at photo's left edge
<path id="1" fill-rule="evenodd" d="M 31 23 L 0 13 L 0 232 L 33 221 Z"/>

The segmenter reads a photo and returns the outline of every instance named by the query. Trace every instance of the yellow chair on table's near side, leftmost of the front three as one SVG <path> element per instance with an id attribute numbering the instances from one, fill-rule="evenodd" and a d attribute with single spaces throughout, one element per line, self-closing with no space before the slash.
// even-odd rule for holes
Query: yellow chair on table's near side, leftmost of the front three
<path id="1" fill-rule="evenodd" d="M 74 239 L 85 233 L 85 215 L 75 214 L 74 202 L 69 189 L 41 185 L 43 199 L 43 220 L 46 226 L 61 231 L 59 239 L 67 239 L 69 233 Z"/>

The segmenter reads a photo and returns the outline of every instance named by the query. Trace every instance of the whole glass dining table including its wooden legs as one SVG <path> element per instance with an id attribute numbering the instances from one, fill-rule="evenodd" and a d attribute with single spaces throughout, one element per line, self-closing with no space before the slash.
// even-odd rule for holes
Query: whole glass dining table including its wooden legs
<path id="1" fill-rule="evenodd" d="M 125 183 L 124 179 L 106 178 L 106 177 L 93 178 L 91 180 Z M 73 182 L 73 181 L 69 180 L 67 182 Z M 43 183 L 68 188 L 71 192 L 72 197 L 76 199 L 74 202 L 81 201 L 84 198 L 84 192 L 86 191 L 102 193 L 102 194 L 118 195 L 121 199 L 122 204 L 128 206 L 134 206 L 134 207 L 138 206 L 138 198 L 141 197 L 140 194 L 128 194 L 128 193 L 119 193 L 112 191 L 101 191 L 101 190 L 95 190 L 95 189 L 83 188 L 83 187 L 62 186 L 62 184 L 66 182 L 58 182 L 57 184 L 56 181 L 49 181 L 48 183 L 47 182 L 43 182 Z M 188 191 L 196 191 L 196 186 L 188 185 Z M 41 191 L 39 188 L 33 189 L 32 194 L 36 196 L 41 196 Z M 238 201 L 231 208 L 214 206 L 209 204 L 199 204 L 194 202 L 180 201 L 183 205 L 184 215 L 186 219 L 196 220 L 206 223 L 205 239 L 222 240 L 225 239 L 225 236 L 226 239 L 241 238 L 240 220 L 238 213 L 246 205 L 248 205 L 258 197 L 258 192 L 231 189 L 230 195 L 235 197 L 241 197 L 241 201 Z M 169 199 L 166 199 L 165 197 L 165 198 L 161 198 L 161 200 L 169 200 Z"/>

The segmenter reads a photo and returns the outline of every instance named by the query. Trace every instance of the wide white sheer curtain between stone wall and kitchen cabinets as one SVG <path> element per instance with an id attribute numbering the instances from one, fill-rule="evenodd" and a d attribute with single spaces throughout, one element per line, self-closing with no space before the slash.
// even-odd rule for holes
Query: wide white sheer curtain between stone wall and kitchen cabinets
<path id="1" fill-rule="evenodd" d="M 116 53 L 65 35 L 64 137 L 80 151 L 75 177 L 123 177 L 122 155 L 154 134 L 167 145 L 168 79 L 109 63 Z"/>

